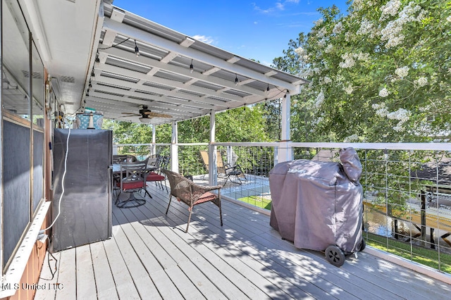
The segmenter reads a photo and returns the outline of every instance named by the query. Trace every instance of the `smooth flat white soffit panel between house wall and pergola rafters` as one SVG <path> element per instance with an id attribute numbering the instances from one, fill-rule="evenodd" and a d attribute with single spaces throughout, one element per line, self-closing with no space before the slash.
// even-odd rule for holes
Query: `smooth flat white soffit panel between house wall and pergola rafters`
<path id="1" fill-rule="evenodd" d="M 68 113 L 80 108 L 101 0 L 19 0 L 37 49 Z M 95 45 L 94 45 L 95 41 Z"/>

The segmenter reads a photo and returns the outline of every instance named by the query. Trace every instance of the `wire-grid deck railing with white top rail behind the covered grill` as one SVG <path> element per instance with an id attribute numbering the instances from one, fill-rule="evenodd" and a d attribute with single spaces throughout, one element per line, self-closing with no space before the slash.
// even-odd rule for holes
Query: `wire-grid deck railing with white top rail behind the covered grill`
<path id="1" fill-rule="evenodd" d="M 221 194 L 269 213 L 269 172 L 281 153 L 290 154 L 291 159 L 339 162 L 339 150 L 352 146 L 362 162 L 367 244 L 451 273 L 451 144 L 282 145 L 287 144 L 178 144 L 178 172 L 208 185 L 209 168 L 200 153 L 216 149 L 223 166 L 217 165 L 214 182 L 223 185 Z M 149 156 L 152 149 L 154 154 L 171 155 L 171 144 L 117 146 L 130 154 L 134 146 L 138 155 Z M 222 169 L 236 166 L 241 172 L 228 175 Z"/>

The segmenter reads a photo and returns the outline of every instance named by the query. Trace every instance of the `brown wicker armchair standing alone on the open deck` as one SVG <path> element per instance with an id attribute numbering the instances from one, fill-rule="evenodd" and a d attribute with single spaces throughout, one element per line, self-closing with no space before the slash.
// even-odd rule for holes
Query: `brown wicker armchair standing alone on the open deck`
<path id="1" fill-rule="evenodd" d="M 162 171 L 166 174 L 169 185 L 171 186 L 171 193 L 169 194 L 169 204 L 168 208 L 166 209 L 166 215 L 168 214 L 169 206 L 171 206 L 172 196 L 175 196 L 178 201 L 182 201 L 183 203 L 187 204 L 187 206 L 190 206 L 188 208 L 190 215 L 188 216 L 188 223 L 186 225 L 185 232 L 188 232 L 188 227 L 190 226 L 192 208 L 197 204 L 202 204 L 209 201 L 218 206 L 221 226 L 223 225 L 223 214 L 221 210 L 221 185 L 211 187 L 197 185 L 178 173 L 166 169 L 163 169 Z M 218 194 L 211 192 L 216 189 L 218 190 Z"/>

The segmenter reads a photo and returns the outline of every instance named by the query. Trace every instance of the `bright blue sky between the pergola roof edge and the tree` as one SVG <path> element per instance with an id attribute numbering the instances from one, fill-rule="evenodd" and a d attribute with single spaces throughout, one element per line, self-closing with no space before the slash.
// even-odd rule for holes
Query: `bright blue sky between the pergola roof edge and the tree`
<path id="1" fill-rule="evenodd" d="M 189 37 L 269 65 L 283 56 L 290 39 L 308 33 L 319 7 L 346 0 L 114 0 L 113 5 Z"/>

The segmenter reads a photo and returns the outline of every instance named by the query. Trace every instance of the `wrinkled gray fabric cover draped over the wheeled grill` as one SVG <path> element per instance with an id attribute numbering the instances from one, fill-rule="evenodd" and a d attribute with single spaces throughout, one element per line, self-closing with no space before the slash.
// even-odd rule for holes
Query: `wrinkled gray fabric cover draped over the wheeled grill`
<path id="1" fill-rule="evenodd" d="M 269 173 L 270 225 L 297 248 L 359 251 L 362 164 L 352 148 L 340 150 L 340 161 L 287 161 Z"/>

